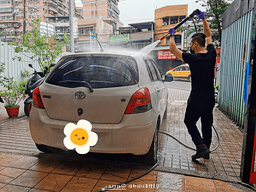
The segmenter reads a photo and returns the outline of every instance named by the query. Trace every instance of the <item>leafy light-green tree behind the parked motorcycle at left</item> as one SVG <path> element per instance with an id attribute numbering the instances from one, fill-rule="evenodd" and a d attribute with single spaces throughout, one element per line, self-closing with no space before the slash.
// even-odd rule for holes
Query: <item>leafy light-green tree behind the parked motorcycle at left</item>
<path id="1" fill-rule="evenodd" d="M 55 62 L 55 59 L 61 56 L 63 47 L 69 43 L 69 39 L 65 34 L 63 39 L 57 39 L 57 35 L 52 36 L 41 35 L 39 32 L 41 18 L 38 17 L 34 23 L 32 23 L 32 31 L 21 35 L 22 41 L 20 46 L 15 48 L 15 52 L 28 52 L 32 53 L 32 60 L 38 61 L 41 69 L 45 66 L 49 67 L 51 63 Z M 13 59 L 19 59 L 15 56 Z"/>

